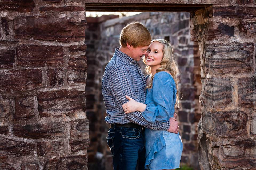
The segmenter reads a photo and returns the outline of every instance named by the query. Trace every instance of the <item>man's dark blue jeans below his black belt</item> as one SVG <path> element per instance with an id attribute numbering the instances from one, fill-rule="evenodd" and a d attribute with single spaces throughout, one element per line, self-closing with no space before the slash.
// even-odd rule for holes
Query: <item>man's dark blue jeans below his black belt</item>
<path id="1" fill-rule="evenodd" d="M 107 135 L 107 145 L 113 155 L 114 170 L 143 170 L 145 136 L 142 129 L 114 127 Z"/>

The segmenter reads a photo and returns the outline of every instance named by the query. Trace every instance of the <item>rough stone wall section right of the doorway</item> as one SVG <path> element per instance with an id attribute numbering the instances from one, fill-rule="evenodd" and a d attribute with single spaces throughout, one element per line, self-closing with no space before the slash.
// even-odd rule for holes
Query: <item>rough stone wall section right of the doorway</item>
<path id="1" fill-rule="evenodd" d="M 191 13 L 201 54 L 201 169 L 256 169 L 255 17 L 255 1 L 240 0 Z"/>

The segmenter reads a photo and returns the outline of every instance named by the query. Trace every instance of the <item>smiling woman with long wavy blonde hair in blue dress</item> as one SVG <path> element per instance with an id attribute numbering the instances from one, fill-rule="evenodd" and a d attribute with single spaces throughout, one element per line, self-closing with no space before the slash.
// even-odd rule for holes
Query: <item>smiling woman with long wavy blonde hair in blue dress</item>
<path id="1" fill-rule="evenodd" d="M 140 111 L 149 122 L 166 122 L 179 108 L 178 67 L 170 43 L 166 40 L 153 40 L 143 58 L 147 65 L 147 95 L 145 104 L 129 96 L 123 104 L 125 113 Z M 179 133 L 165 130 L 145 129 L 146 163 L 145 169 L 179 168 L 182 154 L 182 141 Z"/>

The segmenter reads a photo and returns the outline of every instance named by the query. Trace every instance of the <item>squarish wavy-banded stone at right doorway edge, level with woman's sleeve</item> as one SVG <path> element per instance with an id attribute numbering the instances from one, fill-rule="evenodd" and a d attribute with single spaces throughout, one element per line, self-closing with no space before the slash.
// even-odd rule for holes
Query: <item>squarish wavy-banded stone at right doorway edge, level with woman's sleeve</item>
<path id="1" fill-rule="evenodd" d="M 209 110 L 225 108 L 232 101 L 232 86 L 228 77 L 202 79 L 203 88 L 199 97 L 200 104 Z"/>

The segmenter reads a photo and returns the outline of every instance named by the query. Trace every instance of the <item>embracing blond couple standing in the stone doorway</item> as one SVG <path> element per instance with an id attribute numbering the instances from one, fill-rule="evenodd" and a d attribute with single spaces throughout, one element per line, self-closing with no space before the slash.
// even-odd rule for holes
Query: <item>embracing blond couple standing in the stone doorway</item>
<path id="1" fill-rule="evenodd" d="M 122 29 L 120 45 L 102 79 L 113 168 L 179 168 L 182 141 L 174 110 L 180 100 L 173 49 L 166 40 L 151 41 L 139 22 Z M 139 67 L 141 58 L 147 77 Z"/>

